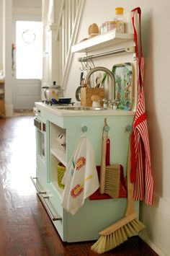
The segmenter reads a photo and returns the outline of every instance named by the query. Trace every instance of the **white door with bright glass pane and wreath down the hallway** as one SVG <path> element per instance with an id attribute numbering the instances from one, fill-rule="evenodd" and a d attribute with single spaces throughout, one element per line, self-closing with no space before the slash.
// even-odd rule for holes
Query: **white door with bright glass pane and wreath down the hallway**
<path id="1" fill-rule="evenodd" d="M 41 17 L 15 16 L 12 44 L 12 102 L 14 110 L 32 109 L 41 97 Z"/>

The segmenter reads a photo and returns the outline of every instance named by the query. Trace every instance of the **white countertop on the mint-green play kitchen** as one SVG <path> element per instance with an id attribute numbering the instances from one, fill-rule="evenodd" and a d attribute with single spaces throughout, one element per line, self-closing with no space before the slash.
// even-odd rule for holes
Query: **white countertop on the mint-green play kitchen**
<path id="1" fill-rule="evenodd" d="M 53 112 L 55 115 L 60 115 L 60 116 L 135 115 L 135 111 L 126 111 L 126 110 L 70 110 L 70 109 L 61 110 L 60 107 L 64 107 L 64 105 L 50 106 L 42 102 L 35 102 L 35 106 L 37 107 L 37 110 L 40 110 L 40 109 L 48 110 L 49 112 Z"/>

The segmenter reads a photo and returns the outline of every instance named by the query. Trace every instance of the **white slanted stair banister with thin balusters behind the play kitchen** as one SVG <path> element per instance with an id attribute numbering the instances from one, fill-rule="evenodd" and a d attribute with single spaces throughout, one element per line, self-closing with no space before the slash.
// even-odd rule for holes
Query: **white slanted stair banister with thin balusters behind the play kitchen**
<path id="1" fill-rule="evenodd" d="M 71 64 L 71 45 L 75 43 L 79 28 L 81 12 L 83 11 L 84 0 L 63 0 L 61 12 L 58 19 L 57 41 L 61 53 L 60 84 L 63 89 L 66 87 L 69 65 Z"/>

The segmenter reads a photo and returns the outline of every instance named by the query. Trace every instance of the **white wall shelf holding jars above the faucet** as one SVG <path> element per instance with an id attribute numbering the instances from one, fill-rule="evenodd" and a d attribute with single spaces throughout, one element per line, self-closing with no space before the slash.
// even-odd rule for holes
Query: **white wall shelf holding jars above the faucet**
<path id="1" fill-rule="evenodd" d="M 71 47 L 71 53 L 88 53 L 91 50 L 99 50 L 110 45 L 124 43 L 126 41 L 133 40 L 133 38 L 133 34 L 117 33 L 115 30 L 110 30 L 102 35 L 97 35 L 73 45 Z"/>

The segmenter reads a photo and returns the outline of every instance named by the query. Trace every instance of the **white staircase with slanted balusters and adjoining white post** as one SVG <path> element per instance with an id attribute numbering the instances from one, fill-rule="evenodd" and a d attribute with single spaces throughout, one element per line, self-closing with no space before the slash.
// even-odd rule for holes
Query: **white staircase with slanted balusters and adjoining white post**
<path id="1" fill-rule="evenodd" d="M 71 45 L 76 43 L 85 0 L 42 0 L 44 61 L 42 85 L 56 81 L 66 88 Z M 59 11 L 58 11 L 59 10 Z"/>

